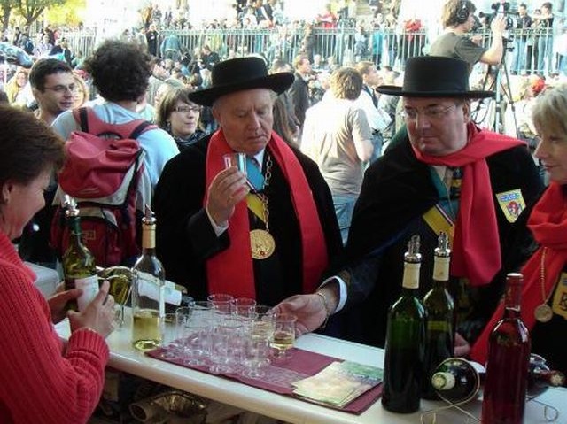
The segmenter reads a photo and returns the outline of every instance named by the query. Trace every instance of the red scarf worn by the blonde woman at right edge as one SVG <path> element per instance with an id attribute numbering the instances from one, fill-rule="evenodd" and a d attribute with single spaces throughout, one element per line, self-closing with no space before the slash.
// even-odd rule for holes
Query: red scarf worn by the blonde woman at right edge
<path id="1" fill-rule="evenodd" d="M 541 254 L 547 248 L 545 257 L 546 297 L 553 291 L 559 274 L 567 263 L 567 197 L 563 194 L 563 187 L 552 182 L 540 201 L 533 207 L 528 220 L 528 227 L 533 238 L 540 244 L 538 249 L 522 268 L 524 274 L 524 288 L 522 289 L 522 319 L 527 328 L 532 329 L 535 324 L 533 311 L 538 305 L 545 302 L 541 298 Z M 504 315 L 504 304 L 498 306 L 493 318 L 485 326 L 477 342 L 472 346 L 470 356 L 484 364 L 488 351 L 488 336 L 496 322 Z"/>

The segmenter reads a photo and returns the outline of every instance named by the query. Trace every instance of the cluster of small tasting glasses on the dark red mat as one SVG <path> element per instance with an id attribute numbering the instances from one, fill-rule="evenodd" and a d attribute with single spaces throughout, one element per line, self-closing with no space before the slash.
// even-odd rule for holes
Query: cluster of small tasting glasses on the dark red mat
<path id="1" fill-rule="evenodd" d="M 295 322 L 253 299 L 214 294 L 166 314 L 160 356 L 214 374 L 261 378 L 271 361 L 291 358 Z"/>

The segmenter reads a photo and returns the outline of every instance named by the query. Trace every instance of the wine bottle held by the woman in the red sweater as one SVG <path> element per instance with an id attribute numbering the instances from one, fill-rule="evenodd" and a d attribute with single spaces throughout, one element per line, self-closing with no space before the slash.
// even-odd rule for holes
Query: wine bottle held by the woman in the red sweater
<path id="1" fill-rule="evenodd" d="M 81 218 L 74 198 L 65 196 L 63 207 L 66 209 L 69 238 L 67 248 L 61 258 L 65 289 L 82 289 L 82 295 L 70 300 L 66 308 L 83 311 L 98 293 L 97 265 L 95 257 L 81 240 Z"/>

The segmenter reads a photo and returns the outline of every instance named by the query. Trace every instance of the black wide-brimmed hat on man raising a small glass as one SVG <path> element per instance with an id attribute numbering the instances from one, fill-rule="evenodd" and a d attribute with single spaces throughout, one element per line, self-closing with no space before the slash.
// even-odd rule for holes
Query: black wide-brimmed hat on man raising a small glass
<path id="1" fill-rule="evenodd" d="M 191 102 L 212 106 L 217 98 L 244 89 L 271 89 L 281 94 L 290 88 L 294 78 L 292 73 L 268 75 L 264 61 L 253 57 L 219 62 L 213 66 L 211 77 L 211 86 L 189 94 Z"/>

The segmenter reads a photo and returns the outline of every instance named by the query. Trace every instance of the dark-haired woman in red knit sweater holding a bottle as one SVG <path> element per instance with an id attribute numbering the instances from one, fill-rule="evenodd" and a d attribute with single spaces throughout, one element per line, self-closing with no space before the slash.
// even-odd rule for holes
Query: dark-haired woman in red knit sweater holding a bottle
<path id="1" fill-rule="evenodd" d="M 83 312 L 66 314 L 80 289 L 46 301 L 35 288 L 12 241 L 43 207 L 64 143 L 33 114 L 9 106 L 0 106 L 0 129 L 0 422 L 85 423 L 103 389 L 114 300 L 105 281 Z M 65 316 L 66 346 L 53 330 Z"/>

